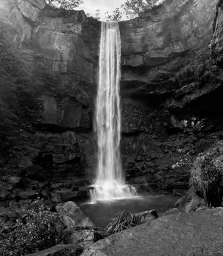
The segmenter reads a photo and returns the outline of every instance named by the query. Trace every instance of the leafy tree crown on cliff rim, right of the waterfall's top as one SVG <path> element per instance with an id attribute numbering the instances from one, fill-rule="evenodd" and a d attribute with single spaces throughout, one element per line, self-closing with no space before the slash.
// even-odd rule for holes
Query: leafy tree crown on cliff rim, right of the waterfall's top
<path id="1" fill-rule="evenodd" d="M 142 12 L 151 10 L 158 4 L 158 0 L 126 0 L 121 7 L 124 10 L 124 13 L 127 18 L 136 18 L 139 17 Z"/>

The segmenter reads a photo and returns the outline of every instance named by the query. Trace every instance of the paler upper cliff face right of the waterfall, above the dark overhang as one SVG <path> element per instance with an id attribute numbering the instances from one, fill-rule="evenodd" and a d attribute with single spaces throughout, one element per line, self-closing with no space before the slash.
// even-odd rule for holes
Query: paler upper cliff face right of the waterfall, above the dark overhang
<path id="1" fill-rule="evenodd" d="M 142 18 L 121 22 L 126 86 L 168 80 L 210 43 L 216 1 L 167 0 Z M 165 90 L 166 88 L 164 88 Z"/>

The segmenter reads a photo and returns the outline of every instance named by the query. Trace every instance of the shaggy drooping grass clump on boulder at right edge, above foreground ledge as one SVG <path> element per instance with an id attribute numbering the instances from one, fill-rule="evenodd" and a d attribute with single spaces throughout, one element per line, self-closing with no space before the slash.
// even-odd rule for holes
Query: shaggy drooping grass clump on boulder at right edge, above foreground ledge
<path id="1" fill-rule="evenodd" d="M 221 206 L 223 170 L 214 165 L 216 152 L 199 154 L 190 173 L 190 184 L 200 193 L 208 206 Z"/>

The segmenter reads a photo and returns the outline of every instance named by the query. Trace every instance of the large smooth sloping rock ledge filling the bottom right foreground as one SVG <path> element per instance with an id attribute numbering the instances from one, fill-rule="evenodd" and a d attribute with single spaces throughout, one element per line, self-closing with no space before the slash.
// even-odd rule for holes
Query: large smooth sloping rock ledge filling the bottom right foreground
<path id="1" fill-rule="evenodd" d="M 175 214 L 98 241 L 82 256 L 223 255 L 223 208 Z"/>

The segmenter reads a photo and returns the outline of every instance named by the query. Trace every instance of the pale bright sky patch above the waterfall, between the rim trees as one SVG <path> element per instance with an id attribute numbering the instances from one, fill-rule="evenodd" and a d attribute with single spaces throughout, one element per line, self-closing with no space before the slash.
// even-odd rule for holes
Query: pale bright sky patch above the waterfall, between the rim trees
<path id="1" fill-rule="evenodd" d="M 77 10 L 84 10 L 86 13 L 95 15 L 96 10 L 100 10 L 100 17 L 103 20 L 105 18 L 105 12 L 113 12 L 116 7 L 120 7 L 124 4 L 125 0 L 83 0 L 84 3 L 77 8 Z"/>

